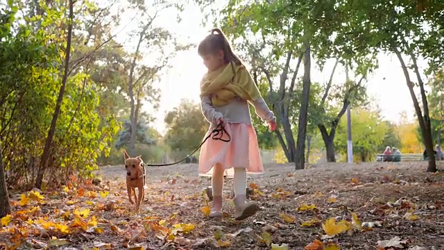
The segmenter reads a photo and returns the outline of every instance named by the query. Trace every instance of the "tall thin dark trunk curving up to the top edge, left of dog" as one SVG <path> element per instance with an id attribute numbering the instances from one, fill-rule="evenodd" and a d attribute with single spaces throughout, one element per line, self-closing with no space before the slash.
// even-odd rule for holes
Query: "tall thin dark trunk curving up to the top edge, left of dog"
<path id="1" fill-rule="evenodd" d="M 58 92 L 58 98 L 56 103 L 56 110 L 54 110 L 53 119 L 51 121 L 51 126 L 49 127 L 48 137 L 44 144 L 44 149 L 42 153 L 42 159 L 40 160 L 40 166 L 37 172 L 37 178 L 35 179 L 35 188 L 42 188 L 43 175 L 48 166 L 49 154 L 51 153 L 51 144 L 53 142 L 54 133 L 56 132 L 57 119 L 60 115 L 60 108 L 62 106 L 63 95 L 65 94 L 65 86 L 67 84 L 68 78 L 68 67 L 69 67 L 69 55 L 71 53 L 71 34 L 72 26 L 74 22 L 74 11 L 73 11 L 73 0 L 69 0 L 69 24 L 68 24 L 68 35 L 67 35 L 67 47 L 65 50 L 65 70 L 63 72 L 62 86 Z"/>

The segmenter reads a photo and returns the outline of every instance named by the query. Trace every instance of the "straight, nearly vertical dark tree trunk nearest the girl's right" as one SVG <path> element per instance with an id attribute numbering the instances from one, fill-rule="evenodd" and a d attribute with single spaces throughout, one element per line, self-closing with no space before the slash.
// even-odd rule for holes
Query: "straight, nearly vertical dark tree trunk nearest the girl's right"
<path id="1" fill-rule="evenodd" d="M 304 56 L 304 76 L 302 78 L 302 101 L 300 103 L 299 121 L 298 121 L 298 140 L 296 142 L 296 169 L 304 169 L 305 167 L 305 137 L 307 135 L 307 113 L 310 94 L 310 44 L 305 40 L 305 56 Z"/>

